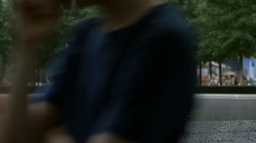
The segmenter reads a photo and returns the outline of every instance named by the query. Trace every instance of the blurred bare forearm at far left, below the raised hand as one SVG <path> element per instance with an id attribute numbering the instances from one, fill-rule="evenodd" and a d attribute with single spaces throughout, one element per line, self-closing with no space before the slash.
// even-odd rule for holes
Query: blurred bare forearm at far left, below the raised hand
<path id="1" fill-rule="evenodd" d="M 49 103 L 27 105 L 27 73 L 33 69 L 34 60 L 32 55 L 26 53 L 17 61 L 12 95 L 1 128 L 1 142 L 39 142 L 56 121 L 58 111 Z"/>

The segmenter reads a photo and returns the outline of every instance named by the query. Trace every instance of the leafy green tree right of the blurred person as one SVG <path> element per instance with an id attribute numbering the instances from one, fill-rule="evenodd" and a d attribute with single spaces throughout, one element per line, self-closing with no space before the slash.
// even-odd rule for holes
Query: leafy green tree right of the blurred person
<path id="1" fill-rule="evenodd" d="M 225 59 L 239 59 L 241 85 L 243 57 L 251 57 L 256 51 L 252 35 L 256 30 L 254 3 L 251 0 L 201 0 L 193 12 L 196 17 L 191 20 L 200 32 L 199 59 L 220 64 Z"/>

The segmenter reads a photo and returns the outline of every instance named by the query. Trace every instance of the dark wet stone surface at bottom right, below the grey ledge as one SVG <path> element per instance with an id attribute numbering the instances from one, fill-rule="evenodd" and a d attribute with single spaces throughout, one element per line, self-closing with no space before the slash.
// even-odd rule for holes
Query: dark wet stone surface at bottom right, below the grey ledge
<path id="1" fill-rule="evenodd" d="M 189 122 L 179 143 L 187 142 L 256 142 L 256 120 Z"/>

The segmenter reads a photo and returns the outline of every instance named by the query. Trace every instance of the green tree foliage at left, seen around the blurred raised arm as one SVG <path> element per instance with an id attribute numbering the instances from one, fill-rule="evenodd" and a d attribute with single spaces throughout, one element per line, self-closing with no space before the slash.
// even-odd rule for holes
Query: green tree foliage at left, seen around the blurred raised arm
<path id="1" fill-rule="evenodd" d="M 37 71 L 40 68 L 44 67 L 49 61 L 51 61 L 54 57 L 60 55 L 62 52 L 66 50 L 66 40 L 74 34 L 74 29 L 77 24 L 84 20 L 84 18 L 89 16 L 94 16 L 100 13 L 101 8 L 98 7 L 90 7 L 86 9 L 77 9 L 75 5 L 72 6 L 70 10 L 63 9 L 63 16 L 61 17 L 61 22 L 57 27 L 56 33 L 53 34 L 48 41 L 48 44 L 43 49 L 43 54 L 39 57 L 36 57 L 37 62 Z M 4 63 L 8 63 L 9 65 L 13 65 L 10 57 L 15 57 L 19 53 L 12 53 L 10 56 L 10 51 L 13 50 L 13 35 L 15 34 L 15 21 L 14 17 L 15 13 L 11 8 L 11 1 L 2 1 L 0 0 L 0 58 L 5 61 Z M 28 29 L 29 30 L 29 29 Z M 2 67 L 7 67 L 4 65 Z M 13 67 L 13 66 L 11 66 Z M 3 73 L 5 68 L 1 68 Z M 34 78 L 38 79 L 39 75 L 34 74 Z M 39 73 L 38 73 L 39 74 Z M 2 77 L 2 76 L 1 76 Z"/>

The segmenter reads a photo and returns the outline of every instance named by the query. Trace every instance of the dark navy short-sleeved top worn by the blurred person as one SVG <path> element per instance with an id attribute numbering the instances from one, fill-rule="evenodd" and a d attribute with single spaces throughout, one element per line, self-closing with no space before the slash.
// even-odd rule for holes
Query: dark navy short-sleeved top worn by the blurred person
<path id="1" fill-rule="evenodd" d="M 174 142 L 191 108 L 192 42 L 175 10 L 161 5 L 104 33 L 82 23 L 46 95 L 78 143 L 110 132 L 138 142 Z"/>

